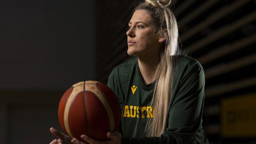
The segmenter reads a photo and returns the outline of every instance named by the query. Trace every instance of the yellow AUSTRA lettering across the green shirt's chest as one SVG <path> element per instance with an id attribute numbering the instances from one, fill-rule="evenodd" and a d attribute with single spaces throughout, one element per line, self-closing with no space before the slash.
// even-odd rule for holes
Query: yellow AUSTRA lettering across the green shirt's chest
<path id="1" fill-rule="evenodd" d="M 135 105 L 125 105 L 123 117 L 129 118 L 154 118 L 154 110 L 151 106 L 139 107 Z"/>

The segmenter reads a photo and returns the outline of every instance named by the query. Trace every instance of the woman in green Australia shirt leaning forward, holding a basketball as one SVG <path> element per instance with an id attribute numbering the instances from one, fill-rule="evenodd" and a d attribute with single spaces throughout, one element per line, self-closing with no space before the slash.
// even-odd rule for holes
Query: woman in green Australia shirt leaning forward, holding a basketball
<path id="1" fill-rule="evenodd" d="M 115 67 L 108 86 L 122 107 L 117 132 L 108 140 L 81 137 L 89 144 L 207 144 L 202 129 L 204 71 L 200 63 L 178 50 L 178 27 L 171 0 L 145 0 L 134 9 L 127 31 L 128 55 Z M 51 128 L 59 137 L 51 144 L 71 139 Z M 78 139 L 74 144 L 83 144 Z"/>

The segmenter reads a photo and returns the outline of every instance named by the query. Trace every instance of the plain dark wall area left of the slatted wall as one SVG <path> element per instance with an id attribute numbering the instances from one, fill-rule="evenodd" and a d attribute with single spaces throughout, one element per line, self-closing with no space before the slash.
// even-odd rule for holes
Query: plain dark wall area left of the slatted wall
<path id="1" fill-rule="evenodd" d="M 58 103 L 96 79 L 96 1 L 0 1 L 0 144 L 48 144 Z"/>

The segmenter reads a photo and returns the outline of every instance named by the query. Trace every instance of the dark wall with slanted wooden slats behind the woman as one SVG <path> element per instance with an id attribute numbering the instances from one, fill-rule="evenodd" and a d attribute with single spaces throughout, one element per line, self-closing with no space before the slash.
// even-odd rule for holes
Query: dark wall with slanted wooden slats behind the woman
<path id="1" fill-rule="evenodd" d="M 130 59 L 126 54 L 126 30 L 130 12 L 138 1 L 97 2 L 96 75 L 98 81 L 106 83 L 113 67 Z M 234 142 L 221 137 L 220 100 L 256 91 L 255 7 L 255 0 L 177 0 L 173 9 L 180 47 L 197 59 L 205 71 L 204 107 L 218 109 L 204 113 L 211 142 Z"/>

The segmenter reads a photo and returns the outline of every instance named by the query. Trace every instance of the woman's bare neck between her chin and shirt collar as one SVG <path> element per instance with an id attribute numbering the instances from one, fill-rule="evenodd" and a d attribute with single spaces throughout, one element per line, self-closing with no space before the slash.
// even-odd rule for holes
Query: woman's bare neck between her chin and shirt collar
<path id="1" fill-rule="evenodd" d="M 154 81 L 156 68 L 159 63 L 159 57 L 141 58 L 138 57 L 139 70 L 141 72 L 142 81 L 144 84 L 149 84 Z"/>

